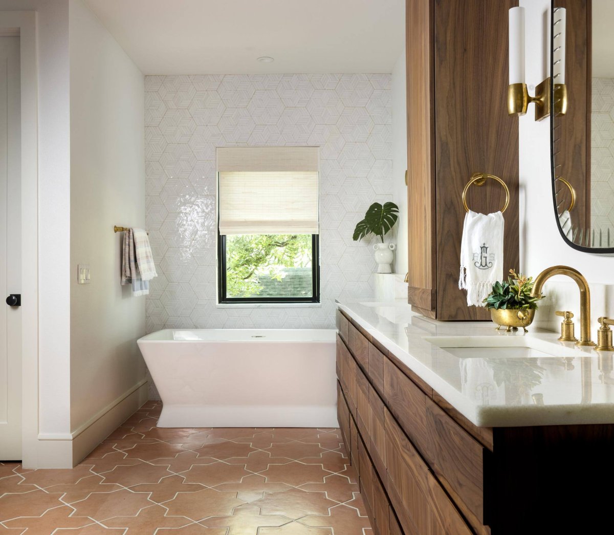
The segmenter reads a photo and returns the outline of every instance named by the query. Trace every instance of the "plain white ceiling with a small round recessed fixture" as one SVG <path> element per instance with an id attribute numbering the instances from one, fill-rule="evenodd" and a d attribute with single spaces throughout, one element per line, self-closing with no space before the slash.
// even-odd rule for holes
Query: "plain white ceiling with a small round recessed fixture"
<path id="1" fill-rule="evenodd" d="M 405 42 L 405 0 L 85 1 L 144 74 L 392 72 Z"/>

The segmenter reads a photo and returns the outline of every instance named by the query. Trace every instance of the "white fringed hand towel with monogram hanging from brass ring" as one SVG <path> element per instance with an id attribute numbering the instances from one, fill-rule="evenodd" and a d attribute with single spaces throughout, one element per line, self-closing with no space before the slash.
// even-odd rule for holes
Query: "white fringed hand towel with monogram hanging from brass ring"
<path id="1" fill-rule="evenodd" d="M 462 229 L 459 288 L 467 305 L 483 307 L 492 285 L 503 279 L 503 214 L 468 211 Z"/>

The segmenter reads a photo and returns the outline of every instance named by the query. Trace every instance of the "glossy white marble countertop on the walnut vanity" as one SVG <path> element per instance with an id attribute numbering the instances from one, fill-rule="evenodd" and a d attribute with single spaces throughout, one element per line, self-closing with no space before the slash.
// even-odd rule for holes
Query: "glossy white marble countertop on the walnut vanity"
<path id="1" fill-rule="evenodd" d="M 613 353 L 558 342 L 558 334 L 532 327 L 527 334 L 505 333 L 491 322 L 435 321 L 402 300 L 338 307 L 476 426 L 614 423 Z M 461 336 L 492 337 L 492 348 L 490 338 L 481 338 L 488 349 L 480 357 L 472 348 L 453 354 L 436 345 Z M 542 344 L 550 354 L 507 356 L 496 347 L 516 342 Z"/>

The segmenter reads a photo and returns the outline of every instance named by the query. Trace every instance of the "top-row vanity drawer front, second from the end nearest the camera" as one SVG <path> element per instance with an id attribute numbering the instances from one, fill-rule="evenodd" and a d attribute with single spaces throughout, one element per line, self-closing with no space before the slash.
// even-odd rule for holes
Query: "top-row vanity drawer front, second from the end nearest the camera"
<path id="1" fill-rule="evenodd" d="M 391 361 L 384 361 L 384 397 L 403 430 L 430 462 L 426 428 L 426 394 Z"/>

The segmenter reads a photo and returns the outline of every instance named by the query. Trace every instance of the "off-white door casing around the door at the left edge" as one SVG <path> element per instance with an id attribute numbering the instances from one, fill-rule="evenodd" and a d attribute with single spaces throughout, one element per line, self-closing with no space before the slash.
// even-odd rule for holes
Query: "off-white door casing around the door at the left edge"
<path id="1" fill-rule="evenodd" d="M 21 78 L 21 458 L 38 466 L 38 76 L 35 11 L 0 11 L 0 35 L 19 36 Z"/>

